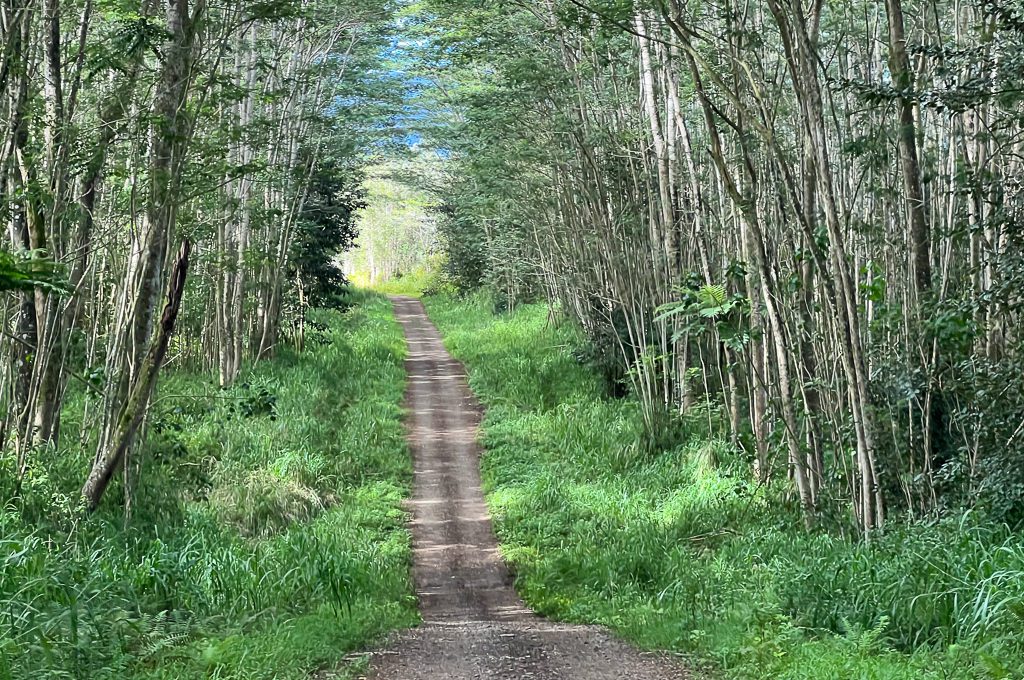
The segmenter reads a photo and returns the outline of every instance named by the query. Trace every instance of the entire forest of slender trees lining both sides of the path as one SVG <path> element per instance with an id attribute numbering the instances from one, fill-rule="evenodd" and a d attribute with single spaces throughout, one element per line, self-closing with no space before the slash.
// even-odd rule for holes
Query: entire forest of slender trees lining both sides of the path
<path id="1" fill-rule="evenodd" d="M 1019 3 L 422 0 L 389 26 L 395 9 L 0 5 L 17 476 L 78 437 L 94 506 L 130 478 L 165 364 L 227 386 L 301 345 L 408 70 L 403 124 L 446 174 L 367 184 L 383 200 L 356 259 L 417 266 L 427 188 L 452 280 L 557 300 L 652 440 L 680 414 L 723 427 L 808 525 L 1024 518 Z M 398 222 L 419 231 L 382 237 Z"/>

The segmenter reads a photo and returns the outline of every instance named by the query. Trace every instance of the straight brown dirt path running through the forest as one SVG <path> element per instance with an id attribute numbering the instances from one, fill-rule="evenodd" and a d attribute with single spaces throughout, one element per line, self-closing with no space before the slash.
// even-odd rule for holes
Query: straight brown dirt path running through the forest
<path id="1" fill-rule="evenodd" d="M 423 625 L 374 654 L 376 680 L 668 680 L 678 665 L 595 626 L 554 624 L 512 589 L 480 488 L 480 408 L 419 300 L 393 297 L 409 343 L 413 575 Z"/>

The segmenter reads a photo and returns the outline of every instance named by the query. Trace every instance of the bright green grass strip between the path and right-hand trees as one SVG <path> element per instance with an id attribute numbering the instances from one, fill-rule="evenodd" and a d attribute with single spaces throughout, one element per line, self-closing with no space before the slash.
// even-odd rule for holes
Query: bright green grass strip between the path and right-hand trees
<path id="1" fill-rule="evenodd" d="M 546 306 L 426 302 L 487 407 L 485 492 L 538 611 L 717 677 L 1024 677 L 1020 535 L 970 515 L 870 545 L 808 534 L 707 414 L 646 444 L 635 401 L 603 394 Z"/>

